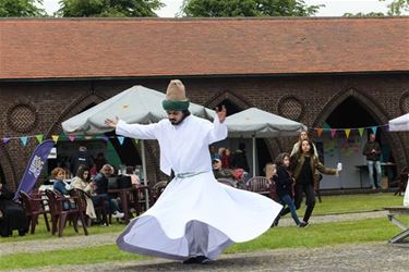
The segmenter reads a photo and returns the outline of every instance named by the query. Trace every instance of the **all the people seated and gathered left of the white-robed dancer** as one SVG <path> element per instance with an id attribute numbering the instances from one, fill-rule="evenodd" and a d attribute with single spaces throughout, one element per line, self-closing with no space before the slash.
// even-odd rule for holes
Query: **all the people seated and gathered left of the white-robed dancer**
<path id="1" fill-rule="evenodd" d="M 74 173 L 74 174 L 73 174 Z M 97 214 L 94 206 L 104 202 L 107 212 L 115 219 L 124 217 L 121 210 L 120 199 L 115 194 L 108 193 L 108 178 L 116 173 L 115 168 L 107 163 L 104 153 L 93 158 L 86 147 L 81 146 L 77 152 L 71 157 L 70 163 L 52 169 L 49 178 L 39 187 L 40 190 L 52 189 L 67 200 L 62 201 L 62 209 L 76 209 L 72 198 L 74 189 L 86 193 L 87 224 L 106 225 L 101 214 Z M 127 166 L 124 176 L 129 176 L 133 187 L 141 185 L 133 166 Z M 12 236 L 17 231 L 23 236 L 28 230 L 28 220 L 24 206 L 14 199 L 14 193 L 9 190 L 0 181 L 0 235 Z M 81 224 L 81 222 L 79 222 Z"/>

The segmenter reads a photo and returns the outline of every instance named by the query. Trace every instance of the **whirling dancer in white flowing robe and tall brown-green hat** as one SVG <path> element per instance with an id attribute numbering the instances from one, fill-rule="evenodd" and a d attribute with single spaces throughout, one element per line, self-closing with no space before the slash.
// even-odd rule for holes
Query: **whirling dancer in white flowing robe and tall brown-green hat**
<path id="1" fill-rule="evenodd" d="M 180 81 L 170 82 L 163 107 L 168 119 L 155 124 L 106 120 L 119 135 L 157 139 L 160 170 L 167 175 L 175 172 L 156 203 L 131 221 L 117 244 L 135 254 L 206 263 L 232 243 L 267 231 L 281 206 L 215 180 L 208 146 L 227 137 L 225 108 L 213 124 L 191 115 Z"/>

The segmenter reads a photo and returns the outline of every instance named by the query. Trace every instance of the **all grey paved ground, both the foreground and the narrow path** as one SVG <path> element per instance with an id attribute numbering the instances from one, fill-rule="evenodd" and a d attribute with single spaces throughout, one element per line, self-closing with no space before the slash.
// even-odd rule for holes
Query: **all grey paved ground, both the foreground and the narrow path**
<path id="1" fill-rule="evenodd" d="M 385 218 L 386 211 L 313 217 L 311 223 L 339 222 L 371 218 Z M 279 225 L 293 225 L 291 218 Z M 56 249 L 111 245 L 118 234 L 98 234 L 17 243 L 1 243 L 0 256 L 16 252 L 38 252 Z M 321 248 L 288 248 L 250 254 L 221 255 L 209 264 L 182 264 L 153 258 L 128 262 L 109 262 L 82 265 L 59 265 L 24 271 L 409 271 L 409 243 L 404 246 L 384 243 L 336 245 Z M 23 271 L 23 270 L 20 270 Z"/>

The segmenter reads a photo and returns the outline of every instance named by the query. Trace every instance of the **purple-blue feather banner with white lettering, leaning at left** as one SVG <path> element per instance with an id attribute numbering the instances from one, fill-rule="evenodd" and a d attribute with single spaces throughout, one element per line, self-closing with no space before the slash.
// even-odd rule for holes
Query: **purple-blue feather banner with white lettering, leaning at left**
<path id="1" fill-rule="evenodd" d="M 25 169 L 19 188 L 15 191 L 14 200 L 19 198 L 21 190 L 27 194 L 32 191 L 39 174 L 41 173 L 43 166 L 46 163 L 47 157 L 50 153 L 52 147 L 53 140 L 50 139 L 43 141 L 36 147 L 32 154 L 32 158 L 29 158 L 27 168 Z"/>

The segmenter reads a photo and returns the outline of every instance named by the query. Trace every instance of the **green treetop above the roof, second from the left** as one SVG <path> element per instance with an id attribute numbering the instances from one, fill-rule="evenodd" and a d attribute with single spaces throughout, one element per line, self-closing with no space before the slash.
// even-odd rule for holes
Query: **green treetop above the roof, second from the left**
<path id="1" fill-rule="evenodd" d="M 61 0 L 63 17 L 156 17 L 160 0 Z"/>

